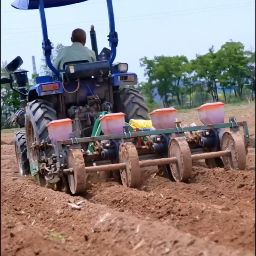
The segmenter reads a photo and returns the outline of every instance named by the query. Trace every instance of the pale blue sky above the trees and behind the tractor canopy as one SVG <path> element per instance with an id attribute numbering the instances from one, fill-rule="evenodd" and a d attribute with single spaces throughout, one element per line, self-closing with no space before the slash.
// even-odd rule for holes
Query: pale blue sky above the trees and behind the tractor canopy
<path id="1" fill-rule="evenodd" d="M 37 72 L 42 54 L 42 32 L 38 10 L 16 10 L 14 0 L 1 0 L 1 62 L 21 56 L 21 68 L 32 75 L 32 56 Z M 188 59 L 205 54 L 214 45 L 218 50 L 232 39 L 246 50 L 255 50 L 255 0 L 113 0 L 117 56 L 114 62 L 125 62 L 129 71 L 144 81 L 139 59 L 147 56 L 185 55 Z M 106 0 L 89 0 L 80 4 L 48 8 L 48 37 L 55 45 L 71 44 L 72 30 L 87 32 L 94 24 L 98 50 L 109 47 Z"/>

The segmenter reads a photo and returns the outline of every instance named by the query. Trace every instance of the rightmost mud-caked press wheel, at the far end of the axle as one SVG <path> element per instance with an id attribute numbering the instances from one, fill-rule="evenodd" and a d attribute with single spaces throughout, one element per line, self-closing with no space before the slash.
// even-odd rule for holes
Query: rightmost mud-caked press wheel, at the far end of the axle
<path id="1" fill-rule="evenodd" d="M 225 132 L 221 140 L 221 150 L 230 150 L 230 156 L 222 156 L 224 166 L 245 170 L 246 149 L 241 136 Z"/>

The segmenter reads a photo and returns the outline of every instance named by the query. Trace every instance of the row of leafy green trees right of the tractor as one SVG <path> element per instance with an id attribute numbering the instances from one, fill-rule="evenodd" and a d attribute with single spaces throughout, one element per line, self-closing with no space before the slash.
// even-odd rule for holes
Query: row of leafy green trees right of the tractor
<path id="1" fill-rule="evenodd" d="M 230 40 L 217 52 L 212 46 L 206 54 L 196 54 L 190 61 L 185 56 L 155 56 L 152 60 L 144 57 L 140 66 L 147 79 L 142 83 L 142 93 L 148 104 L 154 102 L 156 91 L 164 107 L 254 100 L 255 52 L 245 51 L 241 42 Z"/>

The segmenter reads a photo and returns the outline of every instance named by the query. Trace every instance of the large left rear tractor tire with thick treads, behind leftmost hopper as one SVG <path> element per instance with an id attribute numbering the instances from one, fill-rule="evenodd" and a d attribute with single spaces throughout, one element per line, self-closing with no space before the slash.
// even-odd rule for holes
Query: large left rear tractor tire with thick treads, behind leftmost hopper
<path id="1" fill-rule="evenodd" d="M 26 108 L 25 124 L 26 124 L 26 143 L 28 146 L 28 159 L 30 164 L 37 160 L 36 152 L 31 150 L 33 142 L 50 142 L 47 124 L 57 120 L 56 111 L 52 103 L 45 100 L 33 100 L 29 102 Z M 46 150 L 46 156 L 51 155 L 51 148 Z M 42 174 L 39 174 L 40 186 L 45 186 L 46 181 Z"/>

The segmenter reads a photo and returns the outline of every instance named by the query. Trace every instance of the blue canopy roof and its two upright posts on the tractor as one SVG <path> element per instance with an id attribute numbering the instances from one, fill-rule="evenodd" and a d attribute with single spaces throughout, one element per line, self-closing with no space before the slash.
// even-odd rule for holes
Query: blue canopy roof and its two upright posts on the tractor
<path id="1" fill-rule="evenodd" d="M 34 10 L 39 9 L 40 19 L 41 19 L 41 27 L 43 34 L 43 42 L 42 49 L 43 54 L 45 56 L 46 64 L 52 70 L 52 72 L 60 79 L 60 72 L 54 68 L 51 62 L 51 54 L 52 54 L 52 46 L 51 41 L 48 38 L 47 24 L 46 24 L 46 16 L 44 12 L 44 8 L 52 8 L 59 6 L 66 6 L 70 4 L 77 4 L 81 2 L 85 2 L 88 0 L 15 0 L 11 5 L 12 7 L 19 10 Z M 114 10 L 112 0 L 106 0 L 108 7 L 108 20 L 109 20 L 109 35 L 108 41 L 109 46 L 111 48 L 110 57 L 108 62 L 110 66 L 112 66 L 115 58 L 116 58 L 116 47 L 118 45 L 118 34 L 115 31 L 115 20 L 114 20 Z"/>

